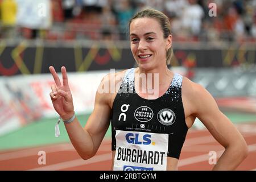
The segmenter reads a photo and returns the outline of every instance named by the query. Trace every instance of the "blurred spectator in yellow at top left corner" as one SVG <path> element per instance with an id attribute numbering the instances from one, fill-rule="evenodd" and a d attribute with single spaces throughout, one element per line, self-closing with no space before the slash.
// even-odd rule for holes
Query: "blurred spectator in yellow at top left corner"
<path id="1" fill-rule="evenodd" d="M 3 0 L 1 3 L 2 38 L 15 38 L 17 4 L 15 0 Z"/>

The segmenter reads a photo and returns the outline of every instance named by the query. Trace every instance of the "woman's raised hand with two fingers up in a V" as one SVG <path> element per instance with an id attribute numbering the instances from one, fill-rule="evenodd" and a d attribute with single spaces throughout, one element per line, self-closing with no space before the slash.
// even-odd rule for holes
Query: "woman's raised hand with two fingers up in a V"
<path id="1" fill-rule="evenodd" d="M 52 66 L 49 67 L 49 71 L 52 73 L 55 81 L 55 84 L 51 85 L 52 92 L 49 94 L 51 96 L 52 105 L 62 119 L 68 120 L 72 118 L 74 114 L 74 105 L 72 94 L 68 86 L 66 68 L 61 67 L 63 84 L 61 84 L 60 78 Z"/>

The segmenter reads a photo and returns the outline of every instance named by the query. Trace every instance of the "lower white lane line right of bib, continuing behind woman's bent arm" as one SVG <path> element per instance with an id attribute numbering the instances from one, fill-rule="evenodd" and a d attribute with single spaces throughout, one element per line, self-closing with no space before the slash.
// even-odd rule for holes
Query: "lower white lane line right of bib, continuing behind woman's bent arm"
<path id="1" fill-rule="evenodd" d="M 249 152 L 256 151 L 256 144 L 249 145 L 248 150 L 249 150 Z M 219 158 L 223 152 L 224 152 L 224 150 L 216 151 L 217 158 Z M 178 162 L 178 167 L 187 166 L 189 164 L 195 164 L 195 163 L 199 163 L 199 162 L 204 162 L 205 160 L 209 160 L 208 154 L 197 155 L 197 156 L 193 156 L 191 158 L 181 159 Z"/>

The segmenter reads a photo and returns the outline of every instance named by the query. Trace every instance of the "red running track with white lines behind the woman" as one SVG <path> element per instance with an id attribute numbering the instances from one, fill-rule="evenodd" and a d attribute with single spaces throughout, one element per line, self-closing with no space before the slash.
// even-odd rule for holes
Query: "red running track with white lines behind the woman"
<path id="1" fill-rule="evenodd" d="M 236 125 L 249 146 L 249 155 L 237 170 L 256 170 L 256 122 Z M 0 170 L 110 170 L 112 164 L 111 141 L 105 139 L 96 156 L 82 160 L 72 144 L 61 143 L 49 146 L 0 151 Z M 39 151 L 46 152 L 46 164 L 39 164 Z M 179 170 L 210 170 L 209 152 L 217 157 L 224 148 L 216 142 L 208 130 L 189 129 L 178 164 Z"/>

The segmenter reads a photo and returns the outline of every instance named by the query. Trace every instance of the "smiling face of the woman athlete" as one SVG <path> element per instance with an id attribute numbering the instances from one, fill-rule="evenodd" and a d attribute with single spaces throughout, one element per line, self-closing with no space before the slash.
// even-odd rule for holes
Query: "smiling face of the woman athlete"
<path id="1" fill-rule="evenodd" d="M 166 51 L 171 47 L 171 35 L 164 39 L 158 20 L 137 18 L 130 24 L 130 46 L 141 69 L 166 66 Z"/>

